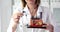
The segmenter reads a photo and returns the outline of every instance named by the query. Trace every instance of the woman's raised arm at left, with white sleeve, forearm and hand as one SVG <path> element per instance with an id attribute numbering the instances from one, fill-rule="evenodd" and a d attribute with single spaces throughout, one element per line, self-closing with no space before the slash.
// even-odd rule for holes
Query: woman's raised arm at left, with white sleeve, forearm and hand
<path id="1" fill-rule="evenodd" d="M 19 24 L 19 19 L 22 15 L 23 14 L 20 12 L 13 14 L 7 32 L 16 32 L 17 25 Z"/>

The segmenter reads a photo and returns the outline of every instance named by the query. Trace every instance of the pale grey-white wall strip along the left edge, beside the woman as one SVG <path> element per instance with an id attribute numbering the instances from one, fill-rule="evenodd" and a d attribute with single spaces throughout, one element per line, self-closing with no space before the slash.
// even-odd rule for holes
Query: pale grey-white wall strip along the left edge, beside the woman
<path id="1" fill-rule="evenodd" d="M 6 32 L 11 17 L 12 0 L 1 1 L 1 32 Z"/>

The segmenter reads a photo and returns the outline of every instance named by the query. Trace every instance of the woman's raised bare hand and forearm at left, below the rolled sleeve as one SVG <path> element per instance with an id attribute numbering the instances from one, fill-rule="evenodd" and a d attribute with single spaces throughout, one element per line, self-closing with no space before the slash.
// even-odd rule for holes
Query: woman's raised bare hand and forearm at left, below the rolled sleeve
<path id="1" fill-rule="evenodd" d="M 20 19 L 21 16 L 23 16 L 23 13 L 20 13 L 20 12 L 13 14 L 14 23 L 12 24 L 13 25 L 12 26 L 12 32 L 16 31 L 16 28 L 17 28 L 17 25 L 19 23 L 19 19 Z"/>

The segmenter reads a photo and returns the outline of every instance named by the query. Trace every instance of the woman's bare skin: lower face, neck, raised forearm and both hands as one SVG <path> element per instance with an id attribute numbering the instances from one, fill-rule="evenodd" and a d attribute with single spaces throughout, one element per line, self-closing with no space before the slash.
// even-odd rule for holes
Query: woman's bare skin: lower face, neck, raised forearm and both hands
<path id="1" fill-rule="evenodd" d="M 37 6 L 35 4 L 36 0 L 25 0 L 25 1 L 29 7 L 29 11 L 30 11 L 31 15 L 34 16 L 36 14 L 36 11 L 37 11 L 37 8 L 34 9 Z M 12 32 L 16 32 L 16 28 L 17 28 L 17 25 L 19 24 L 19 19 L 21 16 L 23 16 L 23 13 L 20 13 L 20 12 L 13 14 L 14 24 L 12 26 Z M 48 23 L 46 25 L 46 27 L 47 27 L 46 29 L 49 30 L 49 32 L 53 32 L 54 29 L 53 29 L 53 26 L 51 24 Z"/>

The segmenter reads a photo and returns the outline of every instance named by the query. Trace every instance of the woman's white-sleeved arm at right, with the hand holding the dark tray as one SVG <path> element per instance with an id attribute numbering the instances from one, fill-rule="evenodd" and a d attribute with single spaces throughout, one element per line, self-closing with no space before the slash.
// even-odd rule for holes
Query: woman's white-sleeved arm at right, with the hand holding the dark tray
<path id="1" fill-rule="evenodd" d="M 43 8 L 44 8 L 43 12 L 45 12 L 46 15 L 47 15 L 47 17 L 46 17 L 46 21 L 47 22 L 45 23 L 45 24 L 47 24 L 46 25 L 46 27 L 47 27 L 46 29 L 49 30 L 49 32 L 54 32 L 53 12 L 47 7 L 43 7 Z"/>

